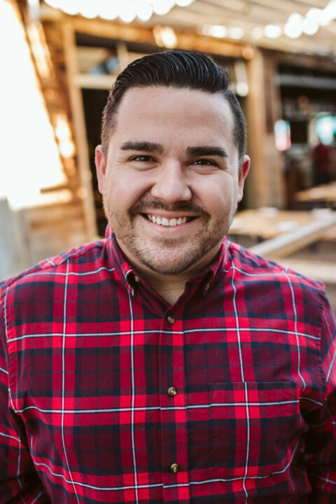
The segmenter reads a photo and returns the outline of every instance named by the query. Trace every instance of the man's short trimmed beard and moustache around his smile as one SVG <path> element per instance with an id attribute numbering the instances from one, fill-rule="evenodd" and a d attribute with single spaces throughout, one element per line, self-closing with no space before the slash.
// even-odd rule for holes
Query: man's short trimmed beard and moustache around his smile
<path id="1" fill-rule="evenodd" d="M 168 205 L 153 197 L 134 204 L 128 214 L 113 208 L 105 196 L 103 204 L 107 221 L 125 256 L 127 257 L 127 251 L 132 253 L 142 265 L 162 275 L 177 275 L 186 272 L 211 249 L 219 245 L 228 232 L 237 211 L 237 197 L 232 204 L 230 214 L 218 216 L 218 218 L 211 218 L 200 206 L 191 202 Z M 137 226 L 136 219 L 146 218 L 144 215 L 158 209 L 181 211 L 197 216 L 202 221 L 202 228 L 193 237 L 190 237 L 189 233 L 186 236 L 174 238 L 144 236 Z"/>

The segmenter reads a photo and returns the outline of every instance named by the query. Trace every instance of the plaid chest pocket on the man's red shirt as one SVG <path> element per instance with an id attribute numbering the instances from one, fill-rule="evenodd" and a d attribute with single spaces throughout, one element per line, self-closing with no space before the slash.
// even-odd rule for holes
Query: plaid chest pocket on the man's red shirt
<path id="1" fill-rule="evenodd" d="M 299 392 L 293 382 L 212 384 L 211 477 L 288 477 L 305 430 Z"/>

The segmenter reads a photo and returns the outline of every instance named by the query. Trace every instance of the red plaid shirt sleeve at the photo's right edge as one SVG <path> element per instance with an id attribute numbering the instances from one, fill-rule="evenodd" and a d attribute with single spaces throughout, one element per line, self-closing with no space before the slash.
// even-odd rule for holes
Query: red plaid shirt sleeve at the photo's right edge
<path id="1" fill-rule="evenodd" d="M 309 504 L 336 502 L 336 321 L 328 300 L 322 312 L 321 365 L 325 400 L 311 415 L 305 439 Z"/>

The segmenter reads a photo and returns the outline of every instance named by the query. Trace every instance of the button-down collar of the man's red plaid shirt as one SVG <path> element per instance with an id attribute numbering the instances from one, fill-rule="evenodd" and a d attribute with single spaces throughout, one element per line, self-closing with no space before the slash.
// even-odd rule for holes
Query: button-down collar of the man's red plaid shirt
<path id="1" fill-rule="evenodd" d="M 130 265 L 129 262 L 125 259 L 120 247 L 118 246 L 116 235 L 111 229 L 110 225 L 107 225 L 105 232 L 105 243 L 106 243 L 106 251 L 109 256 L 109 260 L 111 261 L 113 267 L 116 268 L 116 272 L 120 279 L 125 283 L 125 286 L 130 290 L 130 292 L 134 295 L 137 290 L 137 284 L 141 283 L 148 288 L 148 282 L 141 278 L 136 270 Z M 188 280 L 188 283 L 198 283 L 202 284 L 203 294 L 206 295 L 211 286 L 215 283 L 216 277 L 218 276 L 218 272 L 223 271 L 225 263 L 228 260 L 228 240 L 224 237 L 222 246 L 214 258 L 214 261 L 206 267 L 201 273 L 193 276 Z"/>

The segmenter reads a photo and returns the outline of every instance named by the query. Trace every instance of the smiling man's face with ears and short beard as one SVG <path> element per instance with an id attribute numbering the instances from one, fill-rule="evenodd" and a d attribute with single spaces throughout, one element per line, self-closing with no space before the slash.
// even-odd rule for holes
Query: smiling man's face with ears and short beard
<path id="1" fill-rule="evenodd" d="M 221 246 L 243 194 L 234 120 L 221 94 L 134 87 L 106 158 L 96 149 L 106 216 L 127 259 L 153 274 L 199 272 Z"/>

